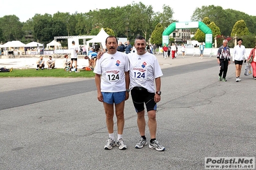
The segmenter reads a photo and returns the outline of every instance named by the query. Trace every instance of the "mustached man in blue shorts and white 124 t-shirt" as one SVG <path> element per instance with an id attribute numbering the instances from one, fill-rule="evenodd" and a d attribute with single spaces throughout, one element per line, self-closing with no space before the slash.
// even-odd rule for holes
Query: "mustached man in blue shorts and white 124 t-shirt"
<path id="1" fill-rule="evenodd" d="M 108 141 L 105 150 L 115 146 L 114 139 L 114 104 L 117 117 L 117 141 L 119 150 L 127 146 L 123 141 L 124 101 L 129 97 L 129 60 L 127 54 L 117 51 L 118 42 L 115 36 L 106 39 L 108 53 L 101 56 L 94 68 L 98 100 L 103 102 L 108 128 Z"/>

